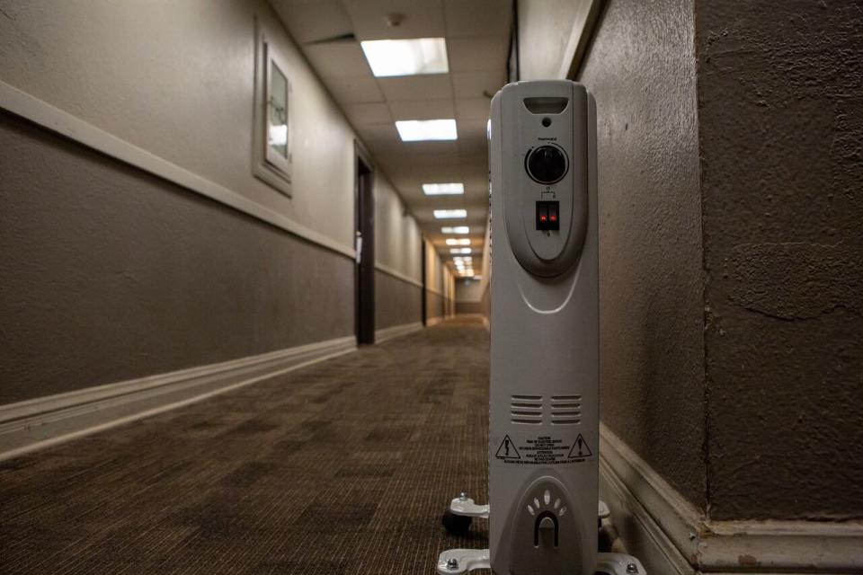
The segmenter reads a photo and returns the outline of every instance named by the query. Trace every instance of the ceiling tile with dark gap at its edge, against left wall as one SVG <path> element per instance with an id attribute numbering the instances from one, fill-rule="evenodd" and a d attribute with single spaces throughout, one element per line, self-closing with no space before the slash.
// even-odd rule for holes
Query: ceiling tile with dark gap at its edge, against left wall
<path id="1" fill-rule="evenodd" d="M 299 44 L 350 34 L 353 24 L 340 0 L 270 0 Z"/>

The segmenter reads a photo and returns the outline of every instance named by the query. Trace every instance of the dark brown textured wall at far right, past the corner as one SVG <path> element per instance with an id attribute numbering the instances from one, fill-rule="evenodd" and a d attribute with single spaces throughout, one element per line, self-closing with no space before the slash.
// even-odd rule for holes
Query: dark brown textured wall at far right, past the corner
<path id="1" fill-rule="evenodd" d="M 710 514 L 863 517 L 863 6 L 696 4 Z"/>

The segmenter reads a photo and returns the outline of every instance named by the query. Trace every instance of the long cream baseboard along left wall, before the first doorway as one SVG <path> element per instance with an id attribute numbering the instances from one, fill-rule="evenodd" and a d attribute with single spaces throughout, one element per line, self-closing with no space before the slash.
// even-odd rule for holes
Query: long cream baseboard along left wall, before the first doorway
<path id="1" fill-rule="evenodd" d="M 356 349 L 353 336 L 0 406 L 0 460 L 197 402 Z"/>

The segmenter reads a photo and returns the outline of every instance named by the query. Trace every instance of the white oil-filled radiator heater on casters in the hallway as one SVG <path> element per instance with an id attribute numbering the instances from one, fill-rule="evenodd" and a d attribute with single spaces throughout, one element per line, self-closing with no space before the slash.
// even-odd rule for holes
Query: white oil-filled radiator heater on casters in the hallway
<path id="1" fill-rule="evenodd" d="M 644 574 L 598 553 L 599 270 L 596 104 L 581 84 L 508 84 L 491 108 L 489 504 L 452 500 L 458 531 L 489 517 L 489 549 L 438 572 Z"/>

